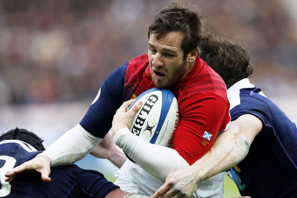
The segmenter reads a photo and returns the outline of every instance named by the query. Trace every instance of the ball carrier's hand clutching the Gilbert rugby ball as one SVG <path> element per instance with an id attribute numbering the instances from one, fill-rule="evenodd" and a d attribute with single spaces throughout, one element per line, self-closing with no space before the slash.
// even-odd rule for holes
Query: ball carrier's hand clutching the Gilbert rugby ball
<path id="1" fill-rule="evenodd" d="M 142 105 L 142 100 L 138 100 L 129 110 L 129 106 L 132 104 L 132 102 L 135 99 L 130 99 L 128 101 L 125 101 L 120 108 L 116 111 L 115 115 L 113 116 L 112 120 L 112 127 L 111 127 L 111 132 L 112 132 L 112 137 L 114 134 L 124 128 L 127 127 L 128 129 L 130 128 L 130 125 L 133 121 L 134 115 L 136 112 L 140 109 Z"/>

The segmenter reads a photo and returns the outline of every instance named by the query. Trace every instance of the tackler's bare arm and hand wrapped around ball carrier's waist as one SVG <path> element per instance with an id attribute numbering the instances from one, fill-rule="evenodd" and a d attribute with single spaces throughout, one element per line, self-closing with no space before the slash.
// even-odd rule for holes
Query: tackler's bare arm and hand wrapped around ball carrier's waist
<path id="1" fill-rule="evenodd" d="M 253 115 L 242 115 L 232 121 L 204 156 L 189 168 L 168 175 L 152 198 L 190 198 L 201 180 L 226 171 L 243 160 L 261 129 L 261 121 Z"/>

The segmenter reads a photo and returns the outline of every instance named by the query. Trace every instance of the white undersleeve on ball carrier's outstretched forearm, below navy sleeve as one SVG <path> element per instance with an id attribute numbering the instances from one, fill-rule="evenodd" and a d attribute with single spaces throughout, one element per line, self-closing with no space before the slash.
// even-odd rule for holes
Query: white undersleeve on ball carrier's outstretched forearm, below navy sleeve
<path id="1" fill-rule="evenodd" d="M 39 155 L 49 156 L 50 167 L 69 165 L 84 158 L 101 140 L 77 124 Z"/>

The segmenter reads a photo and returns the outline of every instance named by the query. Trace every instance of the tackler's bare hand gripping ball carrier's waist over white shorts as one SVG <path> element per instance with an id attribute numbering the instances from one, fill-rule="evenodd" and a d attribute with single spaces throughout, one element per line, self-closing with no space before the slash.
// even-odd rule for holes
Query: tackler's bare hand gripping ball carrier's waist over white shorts
<path id="1" fill-rule="evenodd" d="M 200 182 L 191 168 L 169 174 L 163 186 L 151 198 L 190 198 Z"/>

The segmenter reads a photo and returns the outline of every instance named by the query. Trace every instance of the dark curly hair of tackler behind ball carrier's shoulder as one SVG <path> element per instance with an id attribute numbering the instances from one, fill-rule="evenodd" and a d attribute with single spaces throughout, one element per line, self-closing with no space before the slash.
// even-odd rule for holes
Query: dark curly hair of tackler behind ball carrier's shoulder
<path id="1" fill-rule="evenodd" d="M 241 44 L 211 33 L 201 43 L 199 56 L 223 78 L 227 89 L 252 74 L 249 55 Z"/>

